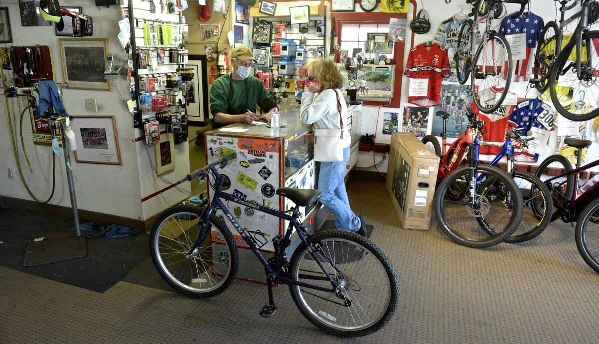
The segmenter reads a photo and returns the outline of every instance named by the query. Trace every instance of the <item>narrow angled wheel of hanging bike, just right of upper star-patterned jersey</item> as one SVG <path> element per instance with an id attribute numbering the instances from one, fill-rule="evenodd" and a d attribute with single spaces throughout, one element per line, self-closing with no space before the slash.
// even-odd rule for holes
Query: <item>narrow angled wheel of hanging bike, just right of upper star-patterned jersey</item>
<path id="1" fill-rule="evenodd" d="M 537 85 L 537 91 L 539 93 L 545 92 L 549 87 L 549 74 L 551 73 L 551 66 L 553 61 L 558 56 L 556 40 L 557 33 L 559 31 L 558 25 L 555 22 L 547 23 L 537 42 L 537 50 L 534 53 L 534 79 L 540 80 Z"/>

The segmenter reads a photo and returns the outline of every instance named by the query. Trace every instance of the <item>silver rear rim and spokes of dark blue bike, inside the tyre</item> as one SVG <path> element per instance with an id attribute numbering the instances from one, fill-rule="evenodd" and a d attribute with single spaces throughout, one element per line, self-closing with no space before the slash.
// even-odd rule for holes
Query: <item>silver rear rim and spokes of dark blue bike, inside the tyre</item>
<path id="1" fill-rule="evenodd" d="M 385 316 L 387 309 L 389 308 L 389 304 L 391 304 L 391 298 L 392 298 L 392 289 L 391 289 L 391 280 L 389 279 L 389 275 L 387 273 L 387 271 L 385 270 L 384 265 L 380 262 L 379 258 L 376 257 L 376 255 L 374 255 L 374 253 L 372 251 L 370 251 L 369 249 L 365 248 L 364 246 L 360 245 L 357 242 L 353 242 L 347 239 L 338 239 L 338 238 L 331 238 L 331 239 L 323 239 L 320 240 L 319 243 L 321 245 L 323 245 L 323 243 L 325 242 L 339 242 L 339 243 L 347 243 L 349 244 L 349 246 L 347 246 L 347 248 L 349 249 L 351 245 L 355 246 L 355 248 L 358 248 L 360 250 L 364 250 L 365 254 L 364 254 L 364 258 L 367 258 L 366 256 L 368 256 L 368 258 L 370 258 L 373 261 L 376 261 L 377 264 L 380 267 L 380 271 L 381 271 L 381 275 L 384 276 L 385 282 L 382 283 L 376 283 L 377 285 L 382 285 L 385 289 L 386 289 L 386 300 L 383 301 L 382 303 L 378 302 L 378 304 L 382 307 L 380 307 L 380 312 L 377 315 L 374 315 L 374 313 L 370 312 L 369 310 L 366 310 L 364 308 L 364 304 L 362 304 L 360 301 L 358 300 L 357 296 L 356 296 L 356 291 L 350 291 L 347 292 L 345 295 L 347 298 L 351 298 L 353 300 L 352 303 L 352 307 L 345 307 L 345 306 L 338 306 L 338 309 L 343 309 L 341 307 L 345 307 L 346 309 L 349 309 L 349 312 L 344 312 L 343 316 L 344 316 L 344 320 L 347 320 L 349 322 L 349 319 L 352 319 L 353 322 L 353 326 L 352 325 L 339 325 L 337 322 L 337 319 L 339 318 L 339 313 L 338 312 L 326 312 L 324 309 L 328 309 L 327 307 L 319 307 L 319 304 L 316 303 L 312 303 L 312 302 L 308 302 L 308 299 L 314 299 L 314 300 L 319 300 L 319 298 L 314 297 L 313 295 L 309 294 L 309 293 L 316 293 L 319 292 L 316 289 L 311 289 L 311 288 L 301 288 L 297 285 L 292 286 L 292 288 L 295 288 L 297 291 L 297 294 L 299 296 L 299 300 L 302 302 L 302 304 L 305 306 L 305 308 L 308 310 L 308 312 L 316 319 L 318 319 L 320 322 L 323 322 L 324 324 L 336 328 L 338 330 L 345 330 L 345 331 L 359 331 L 359 330 L 363 330 L 364 328 L 368 328 L 374 324 L 376 324 L 376 322 L 378 322 L 380 319 L 383 318 L 383 316 Z M 338 245 L 337 245 L 338 246 Z M 330 245 L 327 245 L 326 247 L 329 248 L 329 252 L 331 249 Z M 343 246 L 341 246 L 343 248 Z M 335 252 L 335 244 L 333 244 L 332 246 L 332 252 Z M 323 251 L 326 253 L 327 249 L 323 248 Z M 343 250 L 341 250 L 343 251 Z M 337 255 L 336 254 L 329 254 L 332 255 L 335 261 L 335 264 L 338 265 L 338 268 L 340 268 L 340 270 L 342 270 L 342 266 L 343 264 L 340 264 L 337 261 Z M 310 260 L 306 259 L 306 257 L 310 257 Z M 324 262 L 324 257 L 322 257 L 322 254 L 319 254 L 319 259 L 321 259 L 321 261 L 323 261 L 323 265 L 325 265 L 325 267 L 327 268 L 327 271 L 330 271 L 332 269 L 331 264 L 329 264 L 328 262 Z M 363 259 L 364 259 L 363 258 Z M 367 259 L 368 259 L 367 258 Z M 349 257 L 348 257 L 349 259 Z M 310 270 L 306 269 L 305 267 L 302 268 L 302 262 L 307 262 L 310 261 L 313 264 L 310 265 Z M 351 262 L 350 262 L 351 264 Z M 358 262 L 358 265 L 364 265 L 364 262 L 360 263 Z M 319 270 L 314 270 L 314 268 L 317 268 Z M 319 271 L 320 273 L 322 273 L 322 270 L 320 270 L 320 268 L 318 267 L 318 265 L 316 264 L 316 262 L 314 260 L 311 260 L 311 256 L 308 253 L 308 249 L 305 248 L 304 252 L 302 252 L 301 254 L 301 258 L 299 258 L 298 264 L 295 264 L 295 270 L 291 271 L 291 276 L 292 278 L 296 279 L 296 280 L 301 280 L 299 278 L 299 271 L 300 270 L 308 270 L 308 271 Z M 347 271 L 344 270 L 344 271 Z M 322 274 L 322 276 L 324 276 L 324 274 Z M 314 283 L 312 280 L 310 280 L 311 282 L 308 283 Z M 323 280 L 323 283 L 319 283 L 317 285 L 321 285 L 321 286 L 328 286 L 328 288 L 331 288 L 331 282 L 329 280 Z M 316 284 L 316 283 L 314 283 Z M 359 283 L 359 286 L 370 286 L 370 283 Z M 308 291 L 308 292 L 306 292 Z M 361 290 L 360 290 L 361 291 Z M 320 295 L 325 295 L 325 292 L 320 292 Z M 333 292 L 328 292 L 328 298 L 332 298 L 334 301 L 343 301 L 340 298 L 337 298 L 336 295 Z M 367 297 L 370 298 L 370 297 Z M 373 297 L 374 298 L 374 297 Z M 363 298 L 362 298 L 363 300 Z M 373 300 L 372 298 L 370 298 L 370 300 Z M 329 302 L 330 303 L 330 302 Z M 357 304 L 356 304 L 357 303 Z M 330 303 L 332 304 L 332 303 Z M 367 306 L 368 308 L 368 306 Z M 351 314 L 353 312 L 353 314 Z M 373 314 L 373 317 L 370 318 L 370 316 L 368 316 L 368 312 L 370 312 L 371 314 Z M 349 316 L 348 316 L 349 314 Z M 359 316 L 358 316 L 359 315 Z M 353 316 L 353 318 L 352 318 Z M 364 317 L 368 317 L 368 319 L 370 321 L 366 322 L 365 324 L 361 324 L 358 325 L 357 321 L 361 321 L 361 318 Z"/>

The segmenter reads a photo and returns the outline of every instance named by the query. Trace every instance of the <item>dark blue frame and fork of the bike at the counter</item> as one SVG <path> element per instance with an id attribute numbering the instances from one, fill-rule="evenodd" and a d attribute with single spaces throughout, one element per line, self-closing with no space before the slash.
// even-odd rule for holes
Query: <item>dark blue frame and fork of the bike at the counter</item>
<path id="1" fill-rule="evenodd" d="M 219 174 L 219 172 L 217 171 L 217 169 L 212 165 L 210 166 L 210 171 L 213 174 L 214 178 L 216 180 L 218 180 L 218 185 L 215 185 L 215 187 L 214 187 L 214 195 L 212 197 L 212 200 L 210 201 L 210 207 L 205 212 L 204 219 L 202 219 L 204 222 L 202 224 L 202 229 L 201 229 L 200 235 L 198 236 L 198 239 L 196 240 L 195 244 L 190 249 L 190 251 L 189 251 L 190 254 L 200 245 L 200 243 L 202 243 L 204 241 L 205 237 L 208 235 L 209 232 L 207 231 L 207 228 L 208 228 L 208 221 L 210 219 L 210 215 L 214 212 L 214 210 L 220 209 L 220 210 L 222 210 L 223 213 L 225 213 L 226 218 L 229 220 L 229 222 L 231 222 L 233 227 L 235 227 L 235 230 L 237 230 L 237 232 L 240 234 L 243 241 L 246 242 L 247 246 L 249 246 L 249 248 L 252 250 L 252 252 L 254 252 L 256 257 L 258 257 L 258 259 L 262 263 L 262 265 L 264 265 L 264 269 L 267 271 L 267 276 L 270 276 L 270 278 L 273 280 L 273 282 L 304 286 L 306 288 L 318 289 L 321 291 L 335 292 L 335 289 L 338 287 L 337 282 L 331 276 L 331 274 L 329 274 L 328 271 L 326 271 L 326 268 L 324 267 L 322 261 L 317 257 L 315 251 L 312 249 L 310 242 L 308 241 L 308 238 L 305 233 L 305 227 L 303 227 L 298 221 L 298 216 L 299 216 L 298 207 L 294 207 L 292 209 L 293 210 L 292 214 L 289 215 L 287 213 L 280 212 L 279 210 L 271 209 L 269 207 L 264 207 L 259 204 L 254 204 L 249 201 L 242 200 L 241 198 L 235 197 L 232 194 L 223 192 L 222 185 L 223 185 L 224 177 L 221 176 Z M 208 178 L 208 176 L 207 176 L 207 178 Z M 225 204 L 223 204 L 222 200 L 227 200 L 227 201 L 231 201 L 231 202 L 234 202 L 237 204 L 241 204 L 243 206 L 258 210 L 259 212 L 267 213 L 269 215 L 276 216 L 277 218 L 281 218 L 281 219 L 289 221 L 289 226 L 287 227 L 287 230 L 285 232 L 285 237 L 282 241 L 289 243 L 289 238 L 291 237 L 292 230 L 293 230 L 293 228 L 295 228 L 295 230 L 297 230 L 299 238 L 307 246 L 308 252 L 310 252 L 310 255 L 312 256 L 314 261 L 316 261 L 318 263 L 318 265 L 322 269 L 323 273 L 325 273 L 325 275 L 326 275 L 326 277 L 311 276 L 311 275 L 305 275 L 305 274 L 302 274 L 301 276 L 311 277 L 313 279 L 319 279 L 319 280 L 329 280 L 329 282 L 331 282 L 332 288 L 325 288 L 322 286 L 317 286 L 317 285 L 313 285 L 310 283 L 304 283 L 304 282 L 300 282 L 295 279 L 289 279 L 287 277 L 281 276 L 280 272 L 282 270 L 282 261 L 283 261 L 283 257 L 284 257 L 283 253 L 285 252 L 285 249 L 288 247 L 288 245 L 280 245 L 278 248 L 276 247 L 277 251 L 275 252 L 275 255 L 277 258 L 276 258 L 276 261 L 274 264 L 274 268 L 271 268 L 270 264 L 268 264 L 268 262 L 264 258 L 264 256 L 260 253 L 260 251 L 258 251 L 258 248 L 256 248 L 256 245 L 254 244 L 255 239 L 253 239 L 253 237 L 250 236 L 250 233 L 246 230 L 246 228 L 241 228 L 239 223 L 231 215 L 231 212 L 229 212 L 229 210 L 226 208 Z M 326 255 L 325 255 L 325 257 L 326 257 Z M 333 262 L 329 261 L 329 263 L 335 268 L 335 270 L 339 271 L 337 266 Z"/>

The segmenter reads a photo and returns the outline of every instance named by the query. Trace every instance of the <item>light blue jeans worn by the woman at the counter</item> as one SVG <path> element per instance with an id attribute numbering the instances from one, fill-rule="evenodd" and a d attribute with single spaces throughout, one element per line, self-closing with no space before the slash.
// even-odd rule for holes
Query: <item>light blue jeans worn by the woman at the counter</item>
<path id="1" fill-rule="evenodd" d="M 343 161 L 320 162 L 318 189 L 322 192 L 320 202 L 331 209 L 337 219 L 337 229 L 357 231 L 360 228 L 360 218 L 353 213 L 347 199 L 347 191 L 343 181 L 345 167 L 349 161 L 349 147 L 343 150 Z"/>

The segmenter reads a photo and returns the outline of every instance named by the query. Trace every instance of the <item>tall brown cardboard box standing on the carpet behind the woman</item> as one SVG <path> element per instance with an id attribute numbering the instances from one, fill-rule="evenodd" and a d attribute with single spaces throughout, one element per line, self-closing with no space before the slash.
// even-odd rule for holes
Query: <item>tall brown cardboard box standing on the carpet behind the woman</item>
<path id="1" fill-rule="evenodd" d="M 410 132 L 391 138 L 387 191 L 406 230 L 428 230 L 439 157 Z"/>

